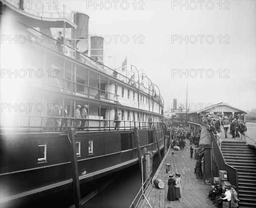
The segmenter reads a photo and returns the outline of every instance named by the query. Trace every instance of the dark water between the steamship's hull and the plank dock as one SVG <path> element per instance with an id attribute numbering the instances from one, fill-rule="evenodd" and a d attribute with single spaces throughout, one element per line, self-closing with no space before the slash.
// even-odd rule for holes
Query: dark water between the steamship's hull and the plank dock
<path id="1" fill-rule="evenodd" d="M 161 152 L 164 157 L 163 151 Z M 154 176 L 160 165 L 158 154 L 153 159 Z M 139 164 L 126 168 L 104 190 L 90 199 L 82 208 L 128 208 L 142 186 Z"/>

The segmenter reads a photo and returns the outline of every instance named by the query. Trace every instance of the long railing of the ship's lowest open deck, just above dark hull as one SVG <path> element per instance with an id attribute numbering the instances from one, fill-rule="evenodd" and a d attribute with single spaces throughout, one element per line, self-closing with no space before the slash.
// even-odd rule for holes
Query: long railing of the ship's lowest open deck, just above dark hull
<path id="1" fill-rule="evenodd" d="M 151 129 L 154 127 L 161 128 L 163 122 L 146 122 L 146 121 L 131 121 L 131 120 L 108 120 L 108 119 L 82 119 L 74 117 L 53 117 L 41 115 L 26 115 L 26 114 L 1 114 L 13 121 L 13 125 L 0 126 L 1 133 L 32 133 L 32 132 L 63 132 L 69 126 L 74 126 L 76 131 L 119 131 L 138 129 Z M 38 125 L 32 125 L 32 119 L 37 121 Z M 85 121 L 84 126 L 76 126 L 76 122 Z M 120 122 L 118 126 L 116 122 Z M 1 122 L 3 123 L 3 122 Z M 65 123 L 67 126 L 65 126 Z M 114 123 L 114 124 L 113 124 Z"/>

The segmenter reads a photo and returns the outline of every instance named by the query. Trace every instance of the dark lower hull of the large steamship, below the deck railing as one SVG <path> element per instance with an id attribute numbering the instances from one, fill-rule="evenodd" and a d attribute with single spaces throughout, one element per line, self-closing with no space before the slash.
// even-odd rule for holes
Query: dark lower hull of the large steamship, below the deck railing
<path id="1" fill-rule="evenodd" d="M 142 155 L 143 148 L 156 154 L 157 141 L 160 150 L 163 149 L 162 129 L 157 128 L 155 132 L 156 137 L 153 137 L 152 129 L 139 130 Z M 16 143 L 13 138 L 17 138 Z M 33 144 L 32 138 L 37 138 L 35 141 L 40 138 L 40 143 L 48 144 L 46 162 L 38 163 L 38 145 Z M 93 155 L 88 154 L 88 140 L 93 141 Z M 133 131 L 81 131 L 76 133 L 76 141 L 81 142 L 81 155 L 77 158 L 80 185 L 138 163 Z M 16 205 L 72 188 L 67 134 L 4 135 L 1 142 L 2 161 L 5 161 L 1 163 L 1 203 Z"/>

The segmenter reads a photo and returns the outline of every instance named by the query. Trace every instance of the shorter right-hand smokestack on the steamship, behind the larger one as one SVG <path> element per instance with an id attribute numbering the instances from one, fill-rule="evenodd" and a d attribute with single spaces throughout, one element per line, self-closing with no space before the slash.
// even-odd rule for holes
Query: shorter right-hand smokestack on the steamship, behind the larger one
<path id="1" fill-rule="evenodd" d="M 91 37 L 91 50 L 90 57 L 103 64 L 103 37 L 93 36 Z"/>

